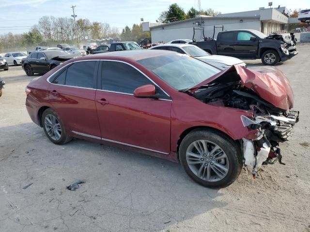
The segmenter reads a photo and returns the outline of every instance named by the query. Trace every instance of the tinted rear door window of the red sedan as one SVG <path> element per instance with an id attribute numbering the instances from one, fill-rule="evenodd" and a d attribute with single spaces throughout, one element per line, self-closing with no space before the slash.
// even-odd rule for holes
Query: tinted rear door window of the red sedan
<path id="1" fill-rule="evenodd" d="M 66 86 L 93 88 L 94 71 L 97 61 L 82 61 L 67 68 Z"/>

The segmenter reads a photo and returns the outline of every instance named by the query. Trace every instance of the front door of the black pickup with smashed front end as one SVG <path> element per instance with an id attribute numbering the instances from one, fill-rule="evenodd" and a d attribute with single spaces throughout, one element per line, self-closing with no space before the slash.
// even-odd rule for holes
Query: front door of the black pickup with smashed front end
<path id="1" fill-rule="evenodd" d="M 235 53 L 238 58 L 256 58 L 258 38 L 248 31 L 237 31 Z M 251 38 L 255 38 L 252 41 Z"/>

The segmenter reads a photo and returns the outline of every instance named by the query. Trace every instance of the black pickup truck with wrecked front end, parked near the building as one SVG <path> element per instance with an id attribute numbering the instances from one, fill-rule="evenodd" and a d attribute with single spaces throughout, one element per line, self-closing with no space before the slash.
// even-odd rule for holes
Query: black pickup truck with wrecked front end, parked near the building
<path id="1" fill-rule="evenodd" d="M 205 39 L 192 44 L 212 55 L 240 59 L 262 59 L 264 65 L 275 65 L 298 54 L 293 42 L 276 34 L 266 36 L 258 30 L 226 30 L 217 34 L 217 40 Z"/>

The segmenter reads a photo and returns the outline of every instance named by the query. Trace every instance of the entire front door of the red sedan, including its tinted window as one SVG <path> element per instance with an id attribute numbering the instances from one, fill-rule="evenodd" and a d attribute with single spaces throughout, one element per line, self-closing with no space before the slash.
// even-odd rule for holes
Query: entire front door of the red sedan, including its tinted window
<path id="1" fill-rule="evenodd" d="M 136 98 L 137 87 L 153 84 L 131 65 L 100 61 L 96 107 L 103 140 L 162 154 L 170 153 L 171 98 Z"/>

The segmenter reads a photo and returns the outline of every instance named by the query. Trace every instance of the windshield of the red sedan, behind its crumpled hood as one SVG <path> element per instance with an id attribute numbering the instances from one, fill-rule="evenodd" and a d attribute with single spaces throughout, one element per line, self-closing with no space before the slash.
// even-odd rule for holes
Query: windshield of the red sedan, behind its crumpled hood
<path id="1" fill-rule="evenodd" d="M 220 72 L 211 65 L 179 53 L 140 59 L 137 62 L 177 90 L 194 87 Z"/>

